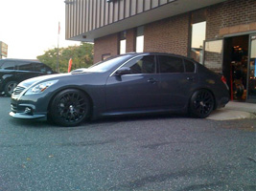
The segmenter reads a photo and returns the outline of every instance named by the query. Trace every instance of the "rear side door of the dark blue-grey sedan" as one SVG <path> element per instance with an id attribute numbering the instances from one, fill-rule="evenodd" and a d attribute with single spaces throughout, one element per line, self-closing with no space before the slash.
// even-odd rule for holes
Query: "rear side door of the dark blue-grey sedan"
<path id="1" fill-rule="evenodd" d="M 172 109 L 184 108 L 191 96 L 193 84 L 198 81 L 195 64 L 187 60 L 183 62 L 183 58 L 175 55 L 158 55 L 158 65 L 161 76 L 160 104 Z"/>

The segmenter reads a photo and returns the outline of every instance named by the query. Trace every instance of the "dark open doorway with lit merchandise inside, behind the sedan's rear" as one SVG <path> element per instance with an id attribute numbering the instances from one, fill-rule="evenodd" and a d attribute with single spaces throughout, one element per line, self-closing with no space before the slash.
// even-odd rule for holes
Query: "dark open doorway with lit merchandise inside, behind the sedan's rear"
<path id="1" fill-rule="evenodd" d="M 224 38 L 223 75 L 231 100 L 245 101 L 247 96 L 247 63 L 249 35 Z"/>

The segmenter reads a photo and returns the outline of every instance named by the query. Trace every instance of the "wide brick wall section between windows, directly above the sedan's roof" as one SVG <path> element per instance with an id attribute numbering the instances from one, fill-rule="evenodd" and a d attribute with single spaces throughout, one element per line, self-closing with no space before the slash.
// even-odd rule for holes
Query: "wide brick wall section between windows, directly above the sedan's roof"
<path id="1" fill-rule="evenodd" d="M 187 55 L 189 13 L 148 24 L 144 28 L 144 51 Z"/>

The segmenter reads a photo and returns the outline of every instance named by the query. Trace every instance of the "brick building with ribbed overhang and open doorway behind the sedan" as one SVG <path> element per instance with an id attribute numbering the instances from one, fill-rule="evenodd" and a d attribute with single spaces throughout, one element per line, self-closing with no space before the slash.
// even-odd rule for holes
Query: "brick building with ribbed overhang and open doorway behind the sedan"
<path id="1" fill-rule="evenodd" d="M 69 0 L 66 38 L 94 42 L 94 62 L 129 52 L 177 53 L 256 102 L 256 0 Z"/>

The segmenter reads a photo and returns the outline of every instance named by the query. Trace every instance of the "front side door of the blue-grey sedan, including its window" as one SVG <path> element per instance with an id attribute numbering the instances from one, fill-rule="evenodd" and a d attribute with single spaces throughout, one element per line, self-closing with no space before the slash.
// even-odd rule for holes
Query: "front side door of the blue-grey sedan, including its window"
<path id="1" fill-rule="evenodd" d="M 158 107 L 159 74 L 156 74 L 154 55 L 141 55 L 123 67 L 130 74 L 111 75 L 105 85 L 107 111 L 155 109 Z"/>

